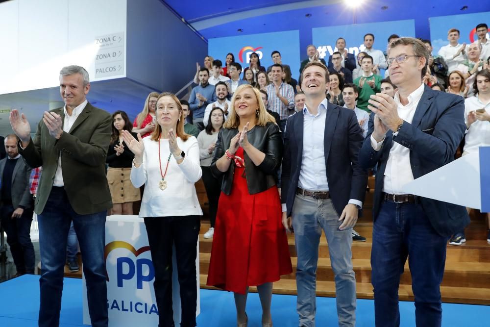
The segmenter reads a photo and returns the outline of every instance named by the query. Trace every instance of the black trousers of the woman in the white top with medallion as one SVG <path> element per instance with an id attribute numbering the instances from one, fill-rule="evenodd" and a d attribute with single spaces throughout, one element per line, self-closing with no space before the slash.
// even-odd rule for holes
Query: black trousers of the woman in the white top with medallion
<path id="1" fill-rule="evenodd" d="M 196 326 L 197 285 L 196 255 L 199 216 L 146 217 L 148 243 L 155 269 L 158 327 L 174 327 L 172 310 L 172 245 L 175 245 L 180 302 L 181 327 Z"/>

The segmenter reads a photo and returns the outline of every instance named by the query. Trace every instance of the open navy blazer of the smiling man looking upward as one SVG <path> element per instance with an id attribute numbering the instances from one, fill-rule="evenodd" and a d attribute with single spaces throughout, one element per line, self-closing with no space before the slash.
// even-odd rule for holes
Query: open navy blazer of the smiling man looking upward
<path id="1" fill-rule="evenodd" d="M 303 160 L 303 111 L 289 117 L 284 135 L 282 162 L 282 202 L 291 216 Z M 359 166 L 358 152 L 363 142 L 354 110 L 328 102 L 323 135 L 327 181 L 335 210 L 342 214 L 350 199 L 364 202 L 368 173 Z"/>

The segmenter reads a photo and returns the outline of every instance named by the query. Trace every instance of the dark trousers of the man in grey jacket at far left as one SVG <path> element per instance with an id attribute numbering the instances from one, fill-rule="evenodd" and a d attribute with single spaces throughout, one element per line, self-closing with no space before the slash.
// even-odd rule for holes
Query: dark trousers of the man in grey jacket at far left
<path id="1" fill-rule="evenodd" d="M 12 218 L 14 210 L 12 204 L 3 204 L 0 208 L 1 223 L 7 234 L 7 243 L 10 246 L 17 274 L 34 274 L 35 254 L 30 240 L 33 211 L 31 208 L 26 208 L 21 217 Z"/>

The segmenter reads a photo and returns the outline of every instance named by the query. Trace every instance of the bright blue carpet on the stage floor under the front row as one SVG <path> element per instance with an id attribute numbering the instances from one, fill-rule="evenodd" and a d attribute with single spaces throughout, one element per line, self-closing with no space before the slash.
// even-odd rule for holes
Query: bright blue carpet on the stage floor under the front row
<path id="1" fill-rule="evenodd" d="M 82 281 L 65 278 L 61 305 L 60 327 L 85 326 L 82 324 Z M 236 326 L 233 294 L 224 291 L 201 290 L 199 327 Z M 25 275 L 0 283 L 0 327 L 36 327 L 39 310 L 39 276 Z M 274 295 L 272 320 L 276 327 L 297 327 L 296 297 Z M 444 327 L 488 327 L 490 306 L 443 303 Z M 260 327 L 261 308 L 255 293 L 248 295 L 249 327 Z M 413 302 L 400 302 L 401 326 L 415 326 Z M 358 327 L 374 326 L 372 300 L 357 301 Z M 337 326 L 335 299 L 317 298 L 317 326 Z"/>

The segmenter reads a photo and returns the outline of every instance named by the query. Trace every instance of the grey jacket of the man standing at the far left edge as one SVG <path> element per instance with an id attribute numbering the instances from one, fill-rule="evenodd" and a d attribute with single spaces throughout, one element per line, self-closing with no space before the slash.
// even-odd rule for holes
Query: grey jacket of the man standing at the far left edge
<path id="1" fill-rule="evenodd" d="M 0 160 L 0 178 L 3 178 L 3 169 L 5 168 L 5 162 L 10 160 L 9 158 L 3 158 Z M 15 164 L 14 171 L 12 173 L 12 186 L 11 186 L 11 196 L 12 196 L 12 206 L 17 209 L 20 205 L 24 208 L 32 207 L 32 195 L 30 194 L 30 184 L 29 177 L 32 169 L 27 166 L 19 158 Z M 2 185 L 3 187 L 3 185 Z M 1 192 L 0 192 L 1 201 Z"/>

